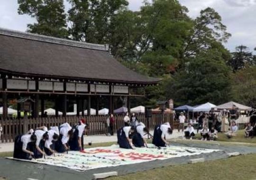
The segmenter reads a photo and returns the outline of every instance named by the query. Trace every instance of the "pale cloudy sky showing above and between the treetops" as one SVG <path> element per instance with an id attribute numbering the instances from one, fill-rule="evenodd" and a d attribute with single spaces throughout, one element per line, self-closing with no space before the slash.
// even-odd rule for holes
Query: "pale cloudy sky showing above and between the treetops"
<path id="1" fill-rule="evenodd" d="M 129 8 L 138 10 L 143 0 L 128 0 Z M 233 51 L 235 46 L 247 45 L 251 51 L 256 47 L 256 0 L 179 0 L 195 18 L 201 9 L 214 8 L 222 17 L 232 37 L 225 46 Z M 0 0 L 0 27 L 25 31 L 34 19 L 18 15 L 17 0 Z"/>

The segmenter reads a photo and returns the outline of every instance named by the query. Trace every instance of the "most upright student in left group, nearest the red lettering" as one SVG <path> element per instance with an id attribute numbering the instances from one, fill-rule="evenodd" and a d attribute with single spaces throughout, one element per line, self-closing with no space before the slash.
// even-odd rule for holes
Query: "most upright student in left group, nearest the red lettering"
<path id="1" fill-rule="evenodd" d="M 73 137 L 69 139 L 69 148 L 71 151 L 83 150 L 83 134 L 87 125 L 85 120 L 80 120 L 78 126 L 73 127 Z"/>

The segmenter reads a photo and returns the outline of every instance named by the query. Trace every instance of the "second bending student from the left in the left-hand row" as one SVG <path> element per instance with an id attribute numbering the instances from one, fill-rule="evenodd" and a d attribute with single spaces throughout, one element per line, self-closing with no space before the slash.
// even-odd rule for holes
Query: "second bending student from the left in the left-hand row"
<path id="1" fill-rule="evenodd" d="M 37 128 L 37 130 L 35 130 L 35 135 L 37 136 L 37 142 L 36 142 L 36 151 L 35 151 L 34 157 L 36 159 L 42 158 L 43 155 L 46 155 L 44 152 L 44 146 L 45 146 L 46 140 L 49 139 L 47 130 L 48 129 L 45 126 Z"/>

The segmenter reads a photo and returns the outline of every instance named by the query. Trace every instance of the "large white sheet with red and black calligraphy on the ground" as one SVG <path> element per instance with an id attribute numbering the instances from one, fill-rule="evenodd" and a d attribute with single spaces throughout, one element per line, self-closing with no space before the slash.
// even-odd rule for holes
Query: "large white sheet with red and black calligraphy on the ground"
<path id="1" fill-rule="evenodd" d="M 85 149 L 83 152 L 69 151 L 68 154 L 55 154 L 55 156 L 46 156 L 46 159 L 33 159 L 28 162 L 86 171 L 154 160 L 165 160 L 182 156 L 209 154 L 216 151 L 219 150 L 184 146 L 157 148 L 154 145 L 149 145 L 149 148 L 122 149 L 117 145 L 112 145 L 107 147 L 89 148 Z M 13 159 L 12 157 L 9 158 Z"/>

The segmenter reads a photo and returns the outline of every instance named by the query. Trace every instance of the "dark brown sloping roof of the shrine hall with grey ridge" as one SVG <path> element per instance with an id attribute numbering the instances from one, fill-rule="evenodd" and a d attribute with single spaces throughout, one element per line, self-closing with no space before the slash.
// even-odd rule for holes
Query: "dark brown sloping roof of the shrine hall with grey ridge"
<path id="1" fill-rule="evenodd" d="M 108 50 L 108 45 L 0 29 L 0 73 L 135 84 L 160 81 L 126 68 Z"/>

